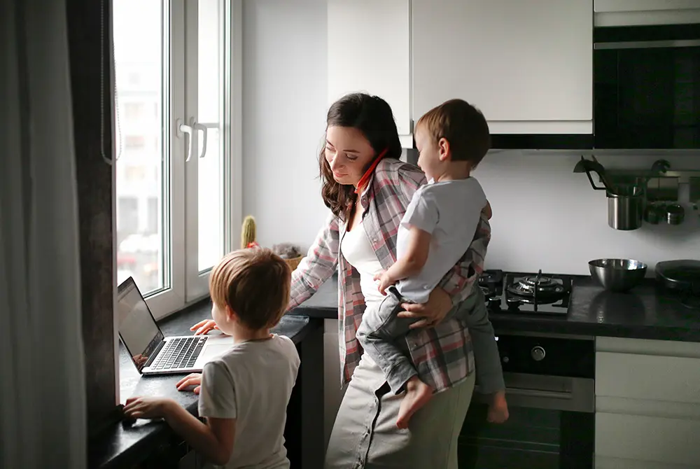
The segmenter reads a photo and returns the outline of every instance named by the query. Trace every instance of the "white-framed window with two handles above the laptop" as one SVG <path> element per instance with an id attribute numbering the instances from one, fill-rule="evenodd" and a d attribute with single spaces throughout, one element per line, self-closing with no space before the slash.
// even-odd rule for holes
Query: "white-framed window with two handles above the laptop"
<path id="1" fill-rule="evenodd" d="M 118 204 L 118 281 L 157 318 L 206 295 L 238 243 L 241 8 L 113 0 L 116 195 L 137 201 Z"/>

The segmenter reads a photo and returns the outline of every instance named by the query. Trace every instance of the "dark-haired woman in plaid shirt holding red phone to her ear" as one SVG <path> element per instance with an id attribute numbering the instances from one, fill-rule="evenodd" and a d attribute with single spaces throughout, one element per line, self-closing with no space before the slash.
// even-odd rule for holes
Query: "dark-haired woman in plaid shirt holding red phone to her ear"
<path id="1" fill-rule="evenodd" d="M 381 301 L 374 274 L 395 262 L 396 231 L 423 173 L 400 162 L 401 144 L 391 108 L 379 97 L 349 94 L 328 111 L 325 147 L 318 164 L 323 201 L 332 211 L 292 278 L 290 309 L 339 272 L 342 381 L 350 382 L 333 426 L 326 468 L 456 468 L 456 439 L 474 388 L 473 357 L 463 323 L 440 322 L 452 307 L 483 307 L 466 288 L 472 266 L 489 241 L 488 215 L 463 259 L 426 304 L 407 304 L 405 317 L 421 318 L 407 341 L 416 367 L 430 371 L 438 391 L 396 427 L 401 395 L 389 393 L 379 367 L 363 356 L 356 331 L 365 305 Z M 478 290 L 478 289 L 475 289 Z M 193 327 L 214 328 L 211 321 Z"/>

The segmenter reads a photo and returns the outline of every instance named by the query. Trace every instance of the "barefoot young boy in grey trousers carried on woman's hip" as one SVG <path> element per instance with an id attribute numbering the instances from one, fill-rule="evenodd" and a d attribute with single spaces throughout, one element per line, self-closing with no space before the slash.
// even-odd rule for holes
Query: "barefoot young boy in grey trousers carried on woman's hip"
<path id="1" fill-rule="evenodd" d="M 461 99 L 444 102 L 420 118 L 415 138 L 420 152 L 418 165 L 428 184 L 416 190 L 401 221 L 395 264 L 375 276 L 386 297 L 377 308 L 365 311 L 357 332 L 360 344 L 384 371 L 392 391 L 406 392 L 396 421 L 399 428 L 408 426 L 410 416 L 430 400 L 433 389 L 421 381 L 398 346 L 412 321 L 396 314 L 402 303 L 428 300 L 430 291 L 467 251 L 482 210 L 488 209 L 484 191 L 470 177 L 491 141 L 480 111 Z M 471 288 L 477 283 L 474 272 Z M 479 295 L 479 291 L 472 294 Z M 503 371 L 484 301 L 477 300 L 472 311 L 457 309 L 451 317 L 466 321 L 479 385 L 482 392 L 493 393 L 489 421 L 505 421 L 508 410 Z"/>

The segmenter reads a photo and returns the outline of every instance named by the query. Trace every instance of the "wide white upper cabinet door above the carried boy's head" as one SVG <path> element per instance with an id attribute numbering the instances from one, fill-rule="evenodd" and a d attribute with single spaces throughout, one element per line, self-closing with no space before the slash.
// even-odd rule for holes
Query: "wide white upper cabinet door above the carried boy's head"
<path id="1" fill-rule="evenodd" d="M 413 116 L 475 104 L 492 134 L 591 134 L 593 0 L 413 0 Z"/>

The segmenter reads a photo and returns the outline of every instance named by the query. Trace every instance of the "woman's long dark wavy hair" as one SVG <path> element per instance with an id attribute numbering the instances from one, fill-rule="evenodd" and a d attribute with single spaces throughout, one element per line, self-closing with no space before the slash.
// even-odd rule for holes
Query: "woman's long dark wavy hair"
<path id="1" fill-rule="evenodd" d="M 374 149 L 375 155 L 379 155 L 386 148 L 384 158 L 398 159 L 401 156 L 401 142 L 398 139 L 391 107 L 380 97 L 364 93 L 346 94 L 328 109 L 326 128 L 332 125 L 353 127 L 362 132 Z M 367 163 L 365 171 L 371 164 L 372 161 Z M 355 188 L 337 183 L 333 179 L 333 172 L 325 160 L 325 139 L 321 154 L 318 155 L 318 168 L 323 182 L 321 195 L 325 206 L 342 221 L 349 220 L 356 200 Z"/>

